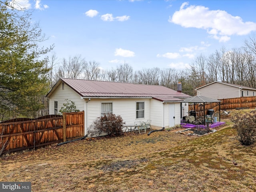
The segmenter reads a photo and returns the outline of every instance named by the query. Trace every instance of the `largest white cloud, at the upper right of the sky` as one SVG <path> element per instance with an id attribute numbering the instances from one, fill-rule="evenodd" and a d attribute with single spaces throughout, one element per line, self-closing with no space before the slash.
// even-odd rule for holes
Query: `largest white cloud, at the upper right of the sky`
<path id="1" fill-rule="evenodd" d="M 230 40 L 232 35 L 246 35 L 256 30 L 254 22 L 243 22 L 239 16 L 232 16 L 223 10 L 188 6 L 188 2 L 184 2 L 180 10 L 174 12 L 168 21 L 185 28 L 204 29 L 212 38 L 220 42 Z"/>

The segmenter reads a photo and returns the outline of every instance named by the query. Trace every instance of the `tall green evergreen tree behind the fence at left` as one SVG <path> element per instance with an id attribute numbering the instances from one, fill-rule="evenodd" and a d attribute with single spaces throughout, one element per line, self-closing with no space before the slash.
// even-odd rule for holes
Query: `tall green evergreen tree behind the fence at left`
<path id="1" fill-rule="evenodd" d="M 8 1 L 0 1 L 0 115 L 18 112 L 33 116 L 42 106 L 48 91 L 41 57 L 52 48 L 40 48 L 45 40 L 31 13 L 15 10 Z"/>

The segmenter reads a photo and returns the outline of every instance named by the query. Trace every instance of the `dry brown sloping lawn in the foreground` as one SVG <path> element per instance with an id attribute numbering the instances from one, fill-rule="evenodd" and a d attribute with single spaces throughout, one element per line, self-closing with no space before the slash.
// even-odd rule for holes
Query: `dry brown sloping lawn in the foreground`
<path id="1" fill-rule="evenodd" d="M 29 181 L 33 192 L 254 192 L 256 145 L 241 146 L 227 120 L 201 137 L 174 130 L 51 146 L 0 158 L 0 170 L 0 181 Z"/>

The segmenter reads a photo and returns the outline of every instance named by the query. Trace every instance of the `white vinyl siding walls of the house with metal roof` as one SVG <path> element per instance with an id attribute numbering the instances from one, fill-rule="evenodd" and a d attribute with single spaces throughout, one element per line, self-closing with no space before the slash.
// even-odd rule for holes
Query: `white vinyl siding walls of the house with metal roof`
<path id="1" fill-rule="evenodd" d="M 66 102 L 65 99 L 73 101 L 76 105 L 76 109 L 85 111 L 85 134 L 88 134 L 88 128 L 101 116 L 102 103 L 112 103 L 113 114 L 120 115 L 125 124 L 134 124 L 134 122 L 138 120 L 136 119 L 136 105 L 138 102 L 143 102 L 144 118 L 140 118 L 139 120 L 151 120 L 151 125 L 157 128 L 162 128 L 163 126 L 168 127 L 168 105 L 175 104 L 175 124 L 180 124 L 180 103 L 163 104 L 161 101 L 150 98 L 82 99 L 78 93 L 66 84 L 62 85 L 62 83 L 56 87 L 54 92 L 50 95 L 49 114 L 54 114 L 54 101 L 58 102 L 58 110 L 60 110 L 63 103 Z"/>

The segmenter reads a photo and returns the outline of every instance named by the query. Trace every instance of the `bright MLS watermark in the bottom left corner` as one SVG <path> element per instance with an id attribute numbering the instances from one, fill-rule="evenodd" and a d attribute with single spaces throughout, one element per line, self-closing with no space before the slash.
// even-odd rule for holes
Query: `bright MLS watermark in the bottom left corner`
<path id="1" fill-rule="evenodd" d="M 0 192 L 31 192 L 31 182 L 0 182 Z"/>

